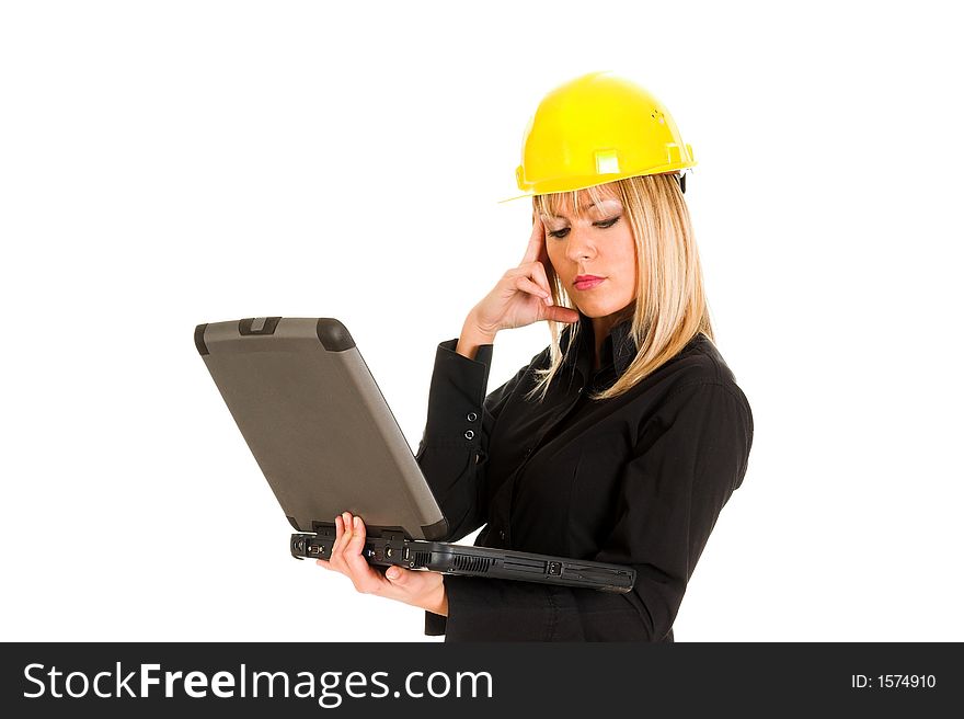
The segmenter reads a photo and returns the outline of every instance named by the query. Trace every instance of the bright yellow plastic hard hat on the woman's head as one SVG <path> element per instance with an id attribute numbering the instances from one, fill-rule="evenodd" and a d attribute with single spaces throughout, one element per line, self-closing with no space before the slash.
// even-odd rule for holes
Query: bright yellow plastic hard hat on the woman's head
<path id="1" fill-rule="evenodd" d="M 673 116 L 649 90 L 610 71 L 589 72 L 549 92 L 523 135 L 516 183 L 524 195 L 583 190 L 696 166 Z"/>

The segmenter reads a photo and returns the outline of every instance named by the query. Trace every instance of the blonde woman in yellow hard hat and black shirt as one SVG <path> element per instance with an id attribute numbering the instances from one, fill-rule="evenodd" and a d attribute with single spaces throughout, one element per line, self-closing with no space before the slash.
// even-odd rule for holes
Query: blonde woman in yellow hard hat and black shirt
<path id="1" fill-rule="evenodd" d="M 484 524 L 477 546 L 628 564 L 632 591 L 381 574 L 347 512 L 319 564 L 425 609 L 425 632 L 446 641 L 674 641 L 753 444 L 703 296 L 682 197 L 693 164 L 669 114 L 631 81 L 590 73 L 542 100 L 516 173 L 532 196 L 528 248 L 439 343 L 416 454 L 448 540 Z M 549 346 L 486 396 L 496 334 L 540 320 Z"/>

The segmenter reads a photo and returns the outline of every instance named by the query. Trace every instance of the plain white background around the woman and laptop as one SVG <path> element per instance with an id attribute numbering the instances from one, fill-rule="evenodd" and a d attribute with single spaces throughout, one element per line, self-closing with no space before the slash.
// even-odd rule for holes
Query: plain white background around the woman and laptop
<path id="1" fill-rule="evenodd" d="M 964 639 L 944 7 L 0 5 L 0 637 L 438 641 L 288 556 L 194 327 L 342 319 L 416 446 L 437 343 L 521 260 L 530 113 L 611 69 L 692 145 L 756 423 L 677 641 Z M 548 341 L 501 334 L 490 389 Z"/>

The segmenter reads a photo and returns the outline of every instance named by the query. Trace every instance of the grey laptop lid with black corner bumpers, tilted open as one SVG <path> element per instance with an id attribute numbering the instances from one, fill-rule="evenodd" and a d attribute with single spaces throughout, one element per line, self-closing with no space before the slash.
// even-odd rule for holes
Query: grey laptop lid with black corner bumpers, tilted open
<path id="1" fill-rule="evenodd" d="M 381 390 L 334 318 L 198 324 L 198 353 L 291 526 L 347 510 L 438 539 L 448 522 Z"/>

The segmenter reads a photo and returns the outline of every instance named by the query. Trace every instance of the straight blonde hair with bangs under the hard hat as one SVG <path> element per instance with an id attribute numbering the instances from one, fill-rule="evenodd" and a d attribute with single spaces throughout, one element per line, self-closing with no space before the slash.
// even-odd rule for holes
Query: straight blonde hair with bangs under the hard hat
<path id="1" fill-rule="evenodd" d="M 676 356 L 699 332 L 715 344 L 689 209 L 674 174 L 640 175 L 585 190 L 536 195 L 532 207 L 537 213 L 549 215 L 558 215 L 567 207 L 579 216 L 579 207 L 587 198 L 596 203 L 612 196 L 622 203 L 639 263 L 635 301 L 617 317 L 617 323 L 632 319 L 630 333 L 638 351 L 611 387 L 589 395 L 594 400 L 628 392 Z M 553 303 L 576 309 L 551 263 L 546 274 Z M 536 393 L 540 393 L 540 401 L 546 398 L 549 384 L 565 360 L 559 342 L 565 327 L 571 327 L 573 332 L 567 351 L 575 352 L 581 323 L 549 321 L 550 364 L 535 369 L 536 386 L 527 392 L 526 399 Z"/>

